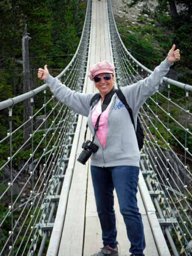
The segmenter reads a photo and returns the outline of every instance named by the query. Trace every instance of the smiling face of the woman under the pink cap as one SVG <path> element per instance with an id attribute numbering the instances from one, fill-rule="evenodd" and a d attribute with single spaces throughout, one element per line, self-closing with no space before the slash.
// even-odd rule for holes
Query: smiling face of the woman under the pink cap
<path id="1" fill-rule="evenodd" d="M 108 73 L 101 73 L 96 75 L 97 76 L 105 76 L 108 75 Z M 94 81 L 94 80 L 93 80 Z M 108 94 L 112 88 L 113 88 L 113 82 L 114 82 L 114 78 L 112 77 L 111 80 L 105 81 L 104 78 L 101 79 L 101 81 L 99 83 L 95 83 L 95 87 L 99 90 L 100 95 L 102 96 L 102 98 L 105 98 L 105 95 Z"/>

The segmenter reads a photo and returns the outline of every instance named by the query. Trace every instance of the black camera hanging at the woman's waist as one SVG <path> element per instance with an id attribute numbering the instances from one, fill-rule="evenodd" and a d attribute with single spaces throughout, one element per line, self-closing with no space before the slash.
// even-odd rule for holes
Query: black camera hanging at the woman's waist
<path id="1" fill-rule="evenodd" d="M 89 157 L 91 156 L 91 154 L 96 153 L 99 147 L 93 144 L 90 140 L 85 140 L 82 145 L 82 148 L 84 149 L 79 155 L 79 158 L 77 159 L 77 161 L 79 161 L 79 163 L 85 164 L 89 159 Z"/>

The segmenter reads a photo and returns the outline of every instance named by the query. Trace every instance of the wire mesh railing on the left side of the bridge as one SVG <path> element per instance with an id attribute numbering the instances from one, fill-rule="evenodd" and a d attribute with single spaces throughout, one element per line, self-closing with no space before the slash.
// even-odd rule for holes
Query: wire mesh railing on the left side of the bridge
<path id="1" fill-rule="evenodd" d="M 87 66 L 91 1 L 81 40 L 70 64 L 61 72 L 64 84 L 82 91 Z M 47 84 L 0 102 L 9 108 L 9 132 L 0 140 L 0 256 L 42 255 L 49 242 L 61 185 L 70 157 L 78 115 L 47 92 Z M 34 99 L 43 92 L 43 106 L 35 109 Z M 30 98 L 29 137 L 23 141 L 21 123 L 15 128 L 15 107 Z M 2 180 L 3 179 L 3 180 Z"/>

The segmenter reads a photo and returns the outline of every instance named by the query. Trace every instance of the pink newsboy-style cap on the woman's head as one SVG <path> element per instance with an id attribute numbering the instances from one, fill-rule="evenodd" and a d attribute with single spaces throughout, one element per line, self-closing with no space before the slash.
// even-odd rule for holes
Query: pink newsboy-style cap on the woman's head
<path id="1" fill-rule="evenodd" d="M 92 65 L 89 69 L 88 77 L 93 81 L 93 78 L 101 73 L 114 74 L 115 66 L 108 61 L 98 62 Z"/>

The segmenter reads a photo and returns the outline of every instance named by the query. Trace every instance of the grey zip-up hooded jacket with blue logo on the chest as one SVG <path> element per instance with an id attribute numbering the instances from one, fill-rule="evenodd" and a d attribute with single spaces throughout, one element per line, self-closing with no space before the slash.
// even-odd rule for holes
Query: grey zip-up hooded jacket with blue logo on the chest
<path id="1" fill-rule="evenodd" d="M 158 90 L 159 84 L 162 83 L 163 76 L 165 76 L 169 67 L 167 58 L 154 69 L 147 78 L 138 81 L 130 86 L 121 87 L 128 105 L 133 111 L 135 127 L 137 127 L 137 114 L 140 107 L 144 104 L 145 100 L 153 95 Z M 52 93 L 58 100 L 67 105 L 76 113 L 83 116 L 88 116 L 88 126 L 91 134 L 94 135 L 94 128 L 91 122 L 90 102 L 94 93 L 78 93 L 66 87 L 56 78 L 48 76 L 44 80 L 50 87 Z M 99 146 L 96 153 L 91 155 L 91 165 L 99 167 L 111 166 L 140 166 L 140 151 L 137 145 L 137 137 L 134 131 L 134 126 L 131 122 L 131 117 L 120 102 L 116 93 L 113 95 L 112 104 L 108 114 L 108 134 L 105 141 L 105 147 L 99 143 L 95 137 L 94 144 Z"/>

